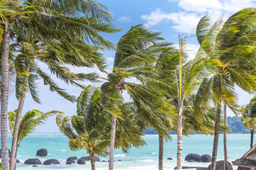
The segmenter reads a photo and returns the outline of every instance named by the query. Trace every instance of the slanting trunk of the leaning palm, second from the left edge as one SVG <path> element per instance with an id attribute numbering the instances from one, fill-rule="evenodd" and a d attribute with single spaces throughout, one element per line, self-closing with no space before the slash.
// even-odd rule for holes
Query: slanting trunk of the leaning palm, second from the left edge
<path id="1" fill-rule="evenodd" d="M 28 75 L 29 75 L 29 68 L 30 68 L 30 59 L 26 59 L 26 73 L 27 76 L 24 79 L 23 82 L 23 88 L 21 91 L 21 98 L 18 103 L 18 111 L 16 115 L 16 120 L 14 124 L 14 134 L 13 134 L 13 139 L 11 143 L 11 159 L 10 159 L 10 170 L 15 170 L 16 168 L 16 152 L 17 152 L 17 145 L 18 145 L 18 127 L 21 124 L 21 115 L 22 115 L 22 110 L 23 110 L 23 105 L 26 97 L 26 86 L 28 84 Z"/>

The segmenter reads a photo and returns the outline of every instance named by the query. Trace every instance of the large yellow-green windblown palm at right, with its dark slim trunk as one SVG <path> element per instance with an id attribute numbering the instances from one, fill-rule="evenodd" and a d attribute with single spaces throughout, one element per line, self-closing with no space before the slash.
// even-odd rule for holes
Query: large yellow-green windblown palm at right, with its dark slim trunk
<path id="1" fill-rule="evenodd" d="M 203 97 L 199 98 L 203 99 L 203 103 L 206 103 L 209 102 L 208 99 L 211 96 L 218 108 L 211 169 L 215 169 L 218 149 L 218 124 L 222 103 L 225 103 L 225 109 L 229 106 L 234 113 L 238 113 L 235 84 L 250 93 L 255 91 L 255 70 L 252 67 L 255 62 L 255 50 L 253 50 L 255 38 L 253 38 L 253 30 L 251 29 L 253 17 L 255 17 L 255 11 L 252 9 L 244 9 L 235 13 L 228 18 L 223 27 L 220 24 L 216 26 L 218 29 L 215 29 L 212 43 L 204 48 L 204 51 L 207 54 L 211 52 L 211 55 L 208 57 L 207 64 L 209 74 L 208 77 L 203 79 L 201 86 L 201 90 L 205 92 L 202 95 Z M 198 23 L 198 30 L 201 33 L 197 34 L 197 37 L 200 43 L 208 40 L 205 36 L 213 28 L 209 27 L 209 18 L 204 16 Z M 201 104 L 200 100 L 198 100 L 198 104 Z M 225 155 L 225 158 L 227 158 L 227 155 Z M 227 168 L 227 162 L 225 160 L 225 169 Z"/>

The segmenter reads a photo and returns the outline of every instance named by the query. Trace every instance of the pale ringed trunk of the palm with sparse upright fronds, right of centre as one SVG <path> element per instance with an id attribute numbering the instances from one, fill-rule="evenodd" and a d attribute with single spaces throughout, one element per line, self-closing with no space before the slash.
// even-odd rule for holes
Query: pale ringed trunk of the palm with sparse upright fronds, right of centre
<path id="1" fill-rule="evenodd" d="M 182 114 L 183 103 L 179 104 L 178 108 L 178 129 L 177 129 L 177 169 L 182 169 Z"/>

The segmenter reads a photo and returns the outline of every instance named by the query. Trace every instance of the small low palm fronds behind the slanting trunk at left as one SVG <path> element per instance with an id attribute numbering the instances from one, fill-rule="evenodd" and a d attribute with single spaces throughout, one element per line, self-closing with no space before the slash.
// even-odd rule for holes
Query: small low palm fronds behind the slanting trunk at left
<path id="1" fill-rule="evenodd" d="M 16 122 L 16 115 L 18 110 L 9 111 L 9 130 L 11 131 L 11 135 L 14 135 L 14 126 Z M 41 111 L 33 109 L 32 111 L 28 111 L 21 118 L 21 123 L 18 127 L 18 137 L 16 142 L 16 148 L 21 145 L 22 140 L 30 135 L 32 132 L 36 130 L 38 125 L 42 125 L 46 122 L 47 118 L 51 115 L 55 115 L 57 113 L 62 113 L 60 111 L 49 111 L 47 113 L 43 113 Z M 15 154 L 16 160 L 16 154 Z"/>

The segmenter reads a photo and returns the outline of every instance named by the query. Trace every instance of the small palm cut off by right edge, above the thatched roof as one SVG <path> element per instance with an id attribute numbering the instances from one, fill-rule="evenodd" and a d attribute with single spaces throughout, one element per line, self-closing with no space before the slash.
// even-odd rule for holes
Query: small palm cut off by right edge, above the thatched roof
<path id="1" fill-rule="evenodd" d="M 251 131 L 250 148 L 253 146 L 253 133 L 256 129 L 256 97 L 252 98 L 250 103 L 242 108 L 242 123 Z"/>

